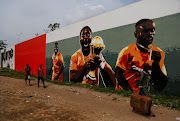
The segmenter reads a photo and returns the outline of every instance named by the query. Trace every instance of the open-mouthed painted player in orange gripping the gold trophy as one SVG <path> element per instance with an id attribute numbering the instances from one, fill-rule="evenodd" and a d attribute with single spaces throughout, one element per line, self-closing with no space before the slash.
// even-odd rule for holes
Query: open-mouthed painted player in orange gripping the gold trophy
<path id="1" fill-rule="evenodd" d="M 101 37 L 95 37 L 98 41 Z M 93 39 L 93 40 L 94 40 Z M 98 79 L 99 74 L 102 75 L 104 86 L 114 87 L 115 86 L 115 75 L 111 67 L 102 54 L 101 49 L 94 49 L 97 53 L 96 56 L 92 57 L 90 45 L 92 41 L 91 28 L 85 26 L 80 31 L 80 45 L 81 48 L 76 51 L 71 57 L 70 63 L 70 81 L 88 83 L 92 85 L 99 85 Z"/>

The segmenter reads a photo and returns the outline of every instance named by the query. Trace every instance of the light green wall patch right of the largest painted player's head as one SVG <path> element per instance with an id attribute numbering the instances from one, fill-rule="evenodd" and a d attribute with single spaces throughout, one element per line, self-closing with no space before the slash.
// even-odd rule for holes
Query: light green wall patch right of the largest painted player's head
<path id="1" fill-rule="evenodd" d="M 155 19 L 156 35 L 154 44 L 163 50 L 180 48 L 180 13 Z"/>

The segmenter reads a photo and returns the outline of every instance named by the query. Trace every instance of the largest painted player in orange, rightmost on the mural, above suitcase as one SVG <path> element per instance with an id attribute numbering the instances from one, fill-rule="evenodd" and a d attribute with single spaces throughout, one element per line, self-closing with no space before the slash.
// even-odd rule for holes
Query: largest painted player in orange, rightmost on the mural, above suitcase
<path id="1" fill-rule="evenodd" d="M 140 91 L 137 85 L 144 64 L 150 66 L 151 83 L 155 90 L 161 91 L 166 86 L 168 78 L 164 66 L 164 52 L 152 45 L 154 35 L 155 23 L 150 19 L 139 20 L 134 32 L 136 43 L 125 47 L 119 53 L 115 75 L 125 90 Z"/>

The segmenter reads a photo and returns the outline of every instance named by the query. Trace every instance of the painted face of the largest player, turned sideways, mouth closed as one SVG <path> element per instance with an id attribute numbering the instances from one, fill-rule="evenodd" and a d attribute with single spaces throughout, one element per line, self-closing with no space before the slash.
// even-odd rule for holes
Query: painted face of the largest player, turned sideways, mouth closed
<path id="1" fill-rule="evenodd" d="M 136 27 L 137 42 L 145 47 L 152 44 L 155 35 L 155 23 L 151 20 L 143 22 Z"/>

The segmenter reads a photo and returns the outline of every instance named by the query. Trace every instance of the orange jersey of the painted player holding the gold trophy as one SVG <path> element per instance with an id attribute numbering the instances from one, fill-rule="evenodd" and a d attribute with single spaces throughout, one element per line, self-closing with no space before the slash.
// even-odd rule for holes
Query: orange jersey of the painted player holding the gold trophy
<path id="1" fill-rule="evenodd" d="M 79 71 L 82 68 L 82 66 L 85 64 L 85 62 L 87 62 L 90 58 L 91 58 L 90 54 L 89 54 L 89 56 L 84 56 L 82 53 L 82 50 L 79 49 L 71 57 L 70 71 L 71 70 Z M 102 60 L 104 60 L 104 57 L 102 56 L 102 54 L 100 54 L 100 58 Z M 106 62 L 105 62 L 105 66 L 110 67 Z M 92 77 L 92 75 L 93 75 L 93 77 Z M 95 69 L 94 74 L 92 74 L 92 71 L 89 71 L 89 72 L 87 72 L 87 75 L 85 75 L 83 77 L 82 83 L 98 85 L 98 81 L 97 81 L 98 75 L 99 75 L 98 74 L 98 68 Z M 89 77 L 95 78 L 95 81 L 89 79 Z"/>

